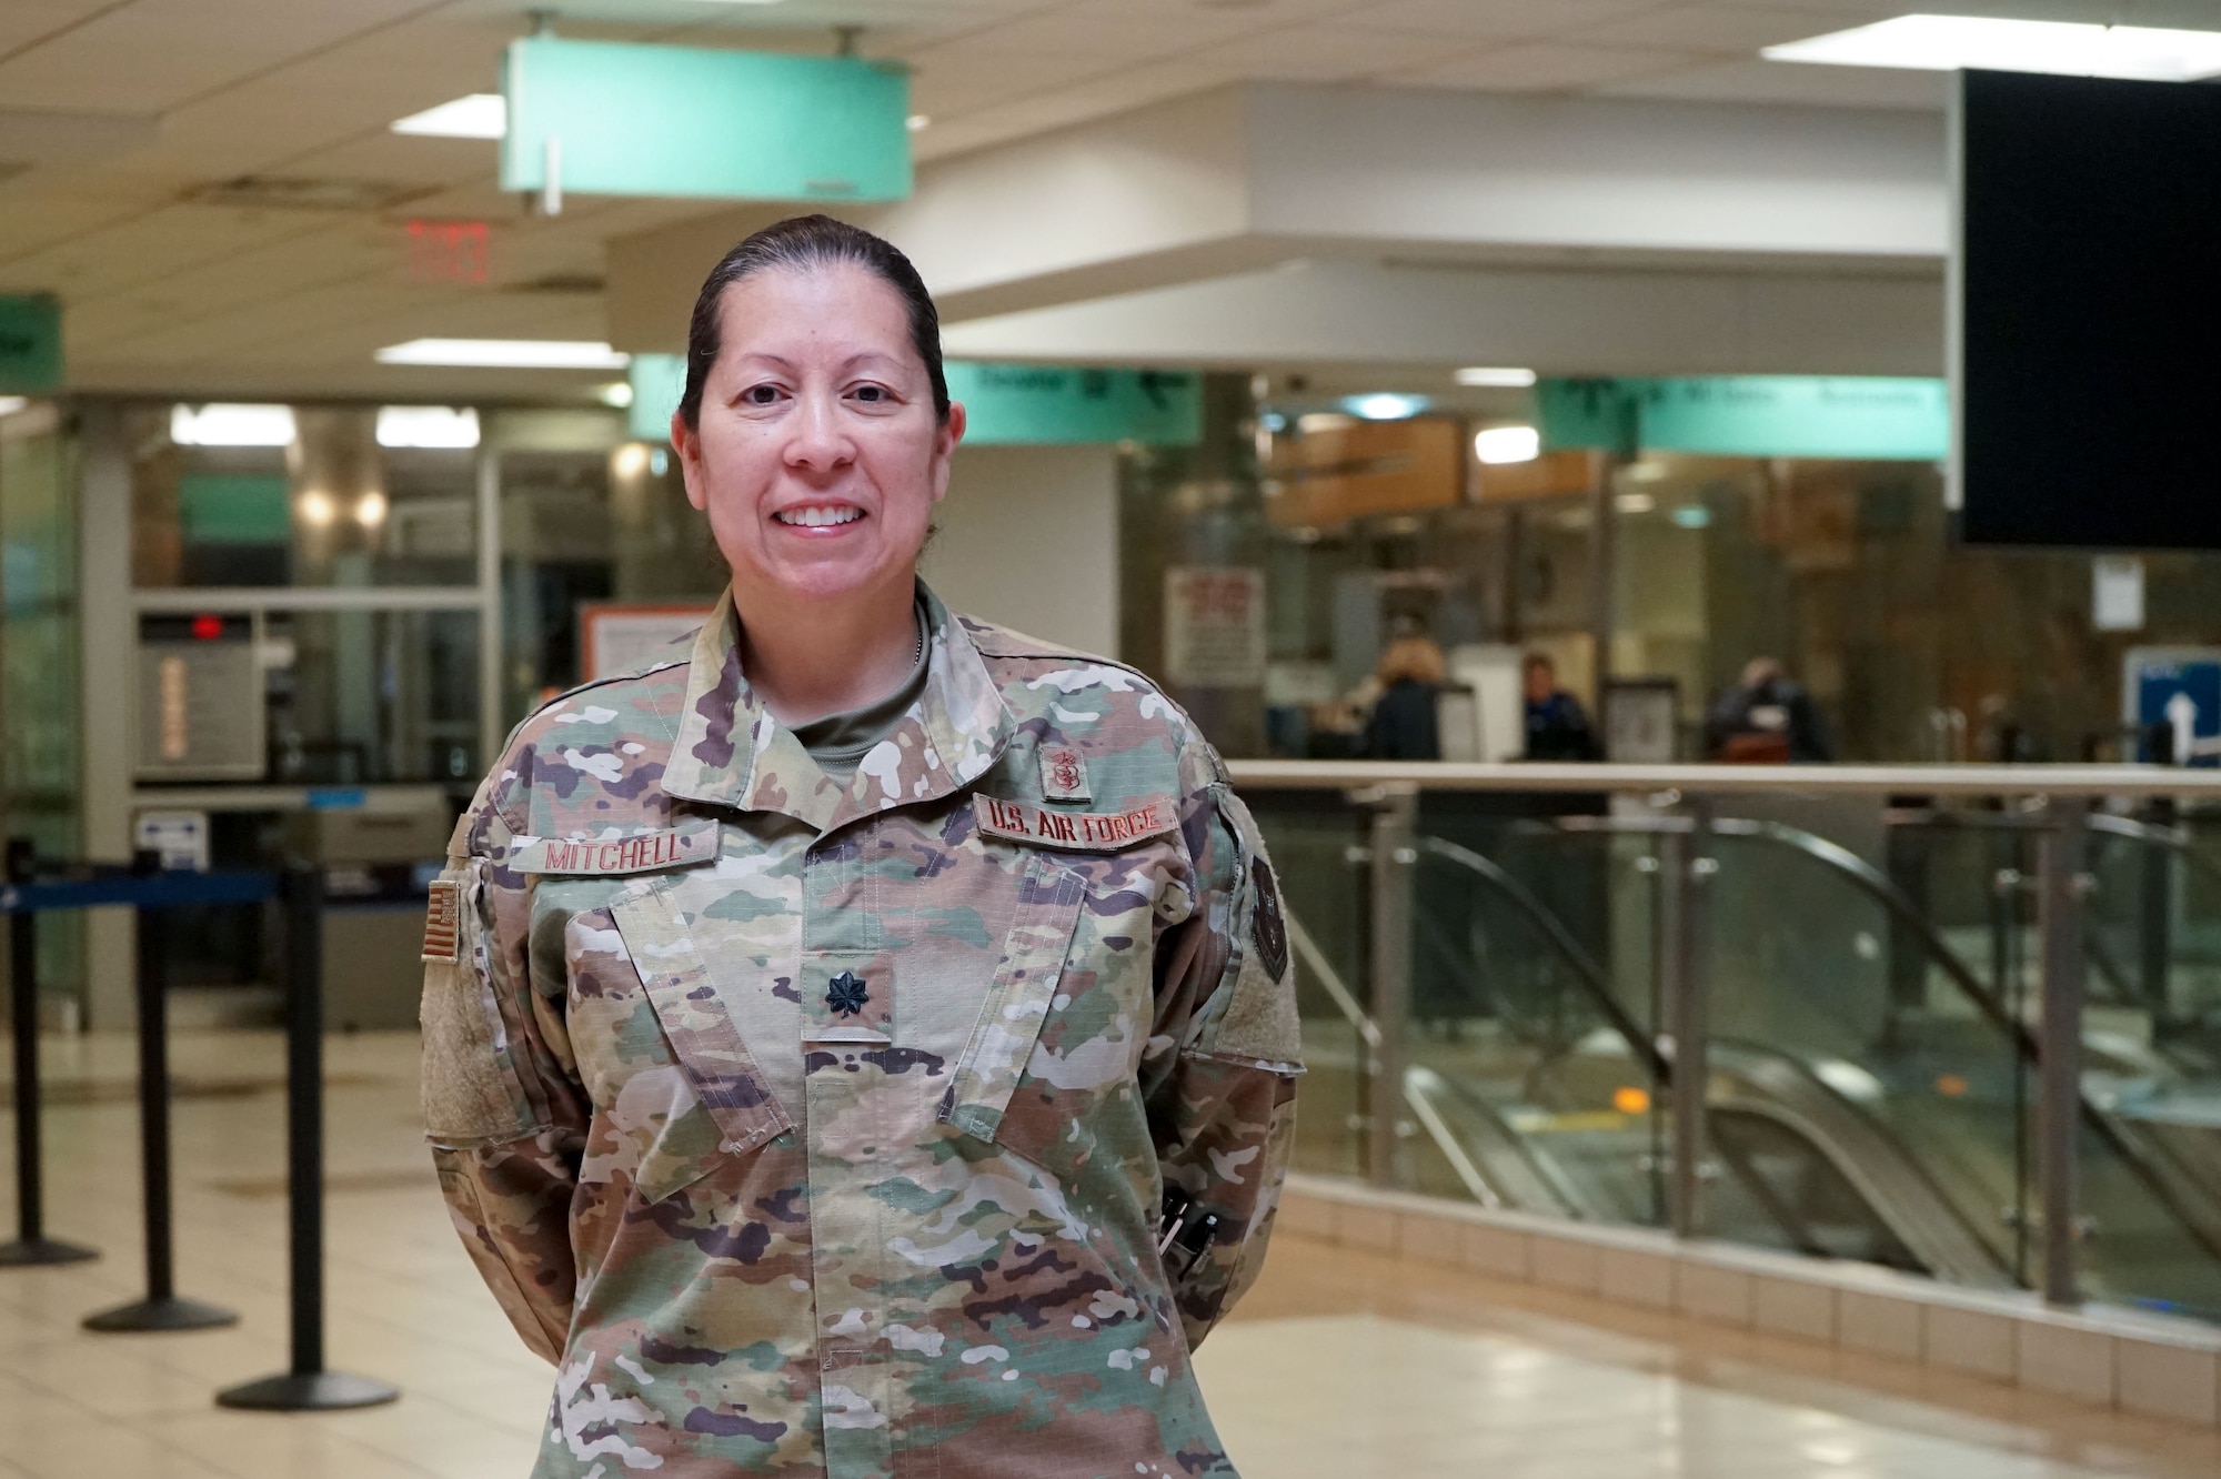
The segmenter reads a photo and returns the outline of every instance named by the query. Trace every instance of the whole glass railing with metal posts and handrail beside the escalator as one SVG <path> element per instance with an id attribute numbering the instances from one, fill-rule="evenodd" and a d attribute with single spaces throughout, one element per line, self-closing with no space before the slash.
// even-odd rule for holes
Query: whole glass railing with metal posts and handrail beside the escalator
<path id="1" fill-rule="evenodd" d="M 2221 1319 L 2212 777 L 1235 784 L 1286 882 L 1302 1168 Z"/>

